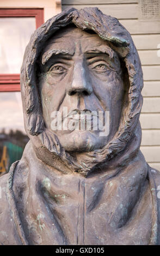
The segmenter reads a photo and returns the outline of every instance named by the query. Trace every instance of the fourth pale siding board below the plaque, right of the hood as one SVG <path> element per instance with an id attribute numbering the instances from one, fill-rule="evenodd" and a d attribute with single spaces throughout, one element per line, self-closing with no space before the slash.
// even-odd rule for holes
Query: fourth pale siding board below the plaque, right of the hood
<path id="1" fill-rule="evenodd" d="M 145 81 L 160 80 L 160 65 L 158 66 L 142 66 L 143 78 Z"/>

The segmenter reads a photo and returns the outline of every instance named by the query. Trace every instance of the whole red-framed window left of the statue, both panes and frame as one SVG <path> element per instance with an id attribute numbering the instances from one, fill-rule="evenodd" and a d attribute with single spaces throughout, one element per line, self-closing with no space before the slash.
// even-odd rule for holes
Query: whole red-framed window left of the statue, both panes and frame
<path id="1" fill-rule="evenodd" d="M 20 69 L 31 34 L 44 23 L 43 9 L 0 9 L 0 175 L 21 159 L 24 131 Z"/>

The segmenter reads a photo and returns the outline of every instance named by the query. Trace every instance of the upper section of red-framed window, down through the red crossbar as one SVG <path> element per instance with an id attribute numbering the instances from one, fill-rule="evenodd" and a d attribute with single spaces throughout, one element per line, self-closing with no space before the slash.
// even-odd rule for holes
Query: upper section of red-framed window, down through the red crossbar
<path id="1" fill-rule="evenodd" d="M 20 91 L 24 50 L 42 23 L 43 9 L 0 9 L 0 92 Z"/>

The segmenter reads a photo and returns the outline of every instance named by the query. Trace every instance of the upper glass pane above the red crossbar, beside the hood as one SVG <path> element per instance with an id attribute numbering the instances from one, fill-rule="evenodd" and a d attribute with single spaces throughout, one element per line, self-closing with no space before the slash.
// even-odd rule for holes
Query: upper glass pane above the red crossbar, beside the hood
<path id="1" fill-rule="evenodd" d="M 0 74 L 19 74 L 35 17 L 0 17 Z"/>

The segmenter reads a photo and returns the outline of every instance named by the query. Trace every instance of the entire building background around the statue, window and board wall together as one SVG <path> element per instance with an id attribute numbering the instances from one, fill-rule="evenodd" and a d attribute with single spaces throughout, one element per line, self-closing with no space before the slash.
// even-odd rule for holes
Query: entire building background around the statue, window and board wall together
<path id="1" fill-rule="evenodd" d="M 21 159 L 24 131 L 20 68 L 30 35 L 69 7 L 99 7 L 131 33 L 143 73 L 141 151 L 160 170 L 160 0 L 1 0 L 0 1 L 0 175 Z"/>

